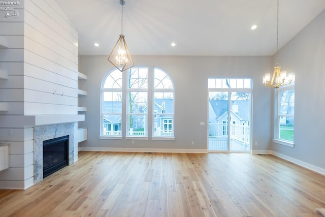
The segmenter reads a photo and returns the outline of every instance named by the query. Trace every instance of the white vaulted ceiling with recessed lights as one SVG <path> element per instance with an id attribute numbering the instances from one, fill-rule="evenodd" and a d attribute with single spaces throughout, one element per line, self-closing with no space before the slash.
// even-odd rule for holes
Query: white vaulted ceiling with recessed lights
<path id="1" fill-rule="evenodd" d="M 121 34 L 119 0 L 56 2 L 79 33 L 79 55 L 108 56 Z M 325 0 L 280 0 L 279 48 L 324 9 Z M 273 55 L 276 28 L 277 0 L 125 0 L 123 6 L 132 55 Z"/>

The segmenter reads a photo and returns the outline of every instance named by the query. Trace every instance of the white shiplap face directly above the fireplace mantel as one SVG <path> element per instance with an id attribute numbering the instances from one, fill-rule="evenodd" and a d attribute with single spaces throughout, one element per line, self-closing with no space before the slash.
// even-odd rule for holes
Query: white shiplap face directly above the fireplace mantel
<path id="1" fill-rule="evenodd" d="M 25 115 L 78 112 L 78 33 L 60 12 L 53 0 L 25 1 Z"/>

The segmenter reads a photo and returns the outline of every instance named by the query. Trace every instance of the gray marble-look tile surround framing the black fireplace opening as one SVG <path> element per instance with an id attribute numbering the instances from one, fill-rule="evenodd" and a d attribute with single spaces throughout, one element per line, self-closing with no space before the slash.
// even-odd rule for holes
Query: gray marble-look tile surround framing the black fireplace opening
<path id="1" fill-rule="evenodd" d="M 43 141 L 69 135 L 69 165 L 78 160 L 74 156 L 74 125 L 72 122 L 34 127 L 34 183 L 43 180 Z"/>

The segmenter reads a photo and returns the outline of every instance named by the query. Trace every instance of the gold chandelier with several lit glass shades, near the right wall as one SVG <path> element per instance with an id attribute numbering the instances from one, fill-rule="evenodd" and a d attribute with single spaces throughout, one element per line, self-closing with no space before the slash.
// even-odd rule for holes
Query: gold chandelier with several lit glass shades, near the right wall
<path id="1" fill-rule="evenodd" d="M 276 38 L 276 66 L 274 67 L 273 75 L 271 78 L 270 73 L 266 73 L 263 77 L 264 86 L 279 88 L 280 86 L 290 84 L 294 80 L 294 73 L 286 73 L 280 71 L 278 60 L 278 47 L 279 47 L 279 0 L 277 5 L 277 38 Z"/>

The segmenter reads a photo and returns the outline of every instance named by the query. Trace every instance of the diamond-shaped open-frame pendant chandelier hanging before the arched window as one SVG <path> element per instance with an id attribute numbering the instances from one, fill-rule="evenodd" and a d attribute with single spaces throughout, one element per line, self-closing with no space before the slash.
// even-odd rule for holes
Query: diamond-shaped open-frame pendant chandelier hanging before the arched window
<path id="1" fill-rule="evenodd" d="M 125 5 L 124 0 L 120 0 L 120 5 L 122 6 L 121 35 L 117 40 L 111 54 L 109 55 L 108 61 L 110 61 L 111 64 L 113 64 L 119 71 L 122 72 L 134 67 L 134 63 L 131 54 L 128 51 L 123 35 L 123 5 Z"/>

